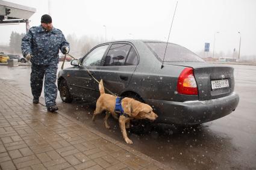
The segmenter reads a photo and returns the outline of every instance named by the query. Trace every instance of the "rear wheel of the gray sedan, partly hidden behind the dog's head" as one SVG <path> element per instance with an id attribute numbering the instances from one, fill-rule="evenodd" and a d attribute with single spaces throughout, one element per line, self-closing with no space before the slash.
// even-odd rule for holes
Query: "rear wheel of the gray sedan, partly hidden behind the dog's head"
<path id="1" fill-rule="evenodd" d="M 139 102 L 144 103 L 143 99 L 137 94 L 126 94 L 123 97 L 130 97 Z M 144 135 L 144 134 L 151 132 L 152 127 L 153 126 L 151 125 L 151 122 L 148 120 L 132 120 L 131 126 L 130 126 L 130 131 L 132 133 L 136 133 L 138 135 Z"/>

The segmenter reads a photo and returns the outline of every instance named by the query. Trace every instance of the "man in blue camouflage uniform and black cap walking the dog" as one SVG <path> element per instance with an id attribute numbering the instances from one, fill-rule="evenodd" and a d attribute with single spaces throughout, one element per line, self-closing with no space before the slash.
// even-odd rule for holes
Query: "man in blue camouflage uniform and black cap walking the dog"
<path id="1" fill-rule="evenodd" d="M 31 61 L 30 85 L 33 103 L 39 103 L 39 97 L 45 77 L 45 103 L 49 112 L 57 111 L 57 68 L 58 52 L 69 53 L 69 43 L 60 29 L 52 26 L 52 18 L 48 14 L 41 17 L 41 25 L 33 26 L 22 38 L 22 54 Z"/>

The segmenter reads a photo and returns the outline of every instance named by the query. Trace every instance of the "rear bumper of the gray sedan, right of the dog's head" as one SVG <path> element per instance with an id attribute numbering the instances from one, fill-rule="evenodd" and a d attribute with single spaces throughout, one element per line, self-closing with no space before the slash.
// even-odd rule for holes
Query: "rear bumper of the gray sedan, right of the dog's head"
<path id="1" fill-rule="evenodd" d="M 213 121 L 230 114 L 239 103 L 239 95 L 232 93 L 219 99 L 189 102 L 143 100 L 158 114 L 155 123 L 193 125 Z"/>

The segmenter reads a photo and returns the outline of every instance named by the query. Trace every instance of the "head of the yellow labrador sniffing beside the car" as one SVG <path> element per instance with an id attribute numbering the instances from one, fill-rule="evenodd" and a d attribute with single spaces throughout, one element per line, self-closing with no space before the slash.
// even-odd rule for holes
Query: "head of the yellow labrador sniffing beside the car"
<path id="1" fill-rule="evenodd" d="M 131 98 L 125 98 L 123 107 L 126 114 L 136 119 L 148 119 L 154 121 L 158 116 L 153 112 L 151 106 Z M 124 100 L 124 99 L 123 99 Z"/>

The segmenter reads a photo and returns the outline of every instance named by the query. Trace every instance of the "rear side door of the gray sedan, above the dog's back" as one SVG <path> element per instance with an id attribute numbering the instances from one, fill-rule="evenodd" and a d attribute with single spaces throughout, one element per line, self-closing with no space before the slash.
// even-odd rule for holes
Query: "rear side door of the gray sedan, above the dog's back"
<path id="1" fill-rule="evenodd" d="M 98 79 L 103 80 L 104 87 L 119 95 L 128 87 L 137 64 L 138 55 L 132 44 L 112 43 L 103 65 L 98 67 Z"/>

